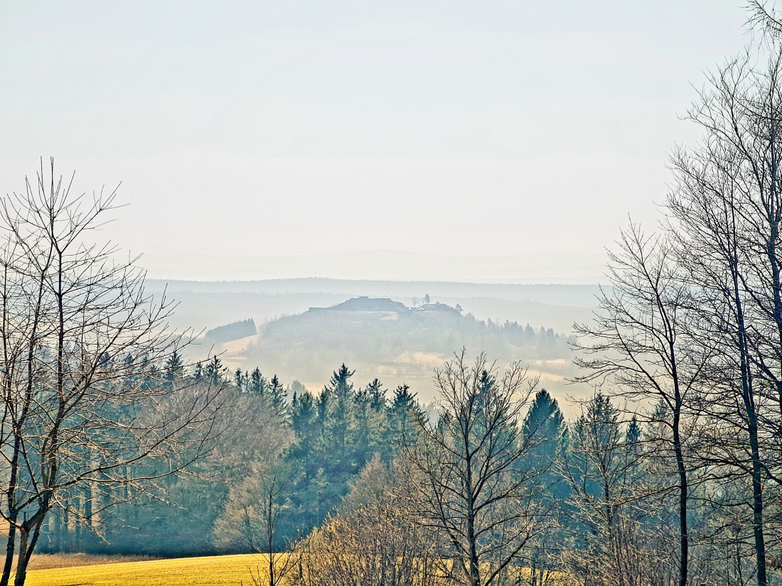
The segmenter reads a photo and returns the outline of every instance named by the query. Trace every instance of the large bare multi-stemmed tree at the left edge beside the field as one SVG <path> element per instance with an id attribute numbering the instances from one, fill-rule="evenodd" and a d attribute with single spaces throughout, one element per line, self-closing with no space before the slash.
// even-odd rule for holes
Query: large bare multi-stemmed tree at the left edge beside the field
<path id="1" fill-rule="evenodd" d="M 202 456 L 220 395 L 165 380 L 184 341 L 167 330 L 173 306 L 145 295 L 135 259 L 91 242 L 115 193 L 75 197 L 53 161 L 50 173 L 41 163 L 35 184 L 0 203 L 2 586 L 15 552 L 24 583 L 46 516 L 69 509 L 75 488 L 102 491 L 105 507 L 118 488 Z"/>

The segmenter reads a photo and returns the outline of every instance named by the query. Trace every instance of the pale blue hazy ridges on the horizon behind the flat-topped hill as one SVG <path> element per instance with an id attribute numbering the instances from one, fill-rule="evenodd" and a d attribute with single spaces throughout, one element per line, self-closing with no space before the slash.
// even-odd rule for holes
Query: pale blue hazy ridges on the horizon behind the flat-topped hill
<path id="1" fill-rule="evenodd" d="M 481 320 L 511 320 L 569 334 L 591 319 L 597 285 L 484 284 L 448 281 L 270 279 L 253 281 L 149 280 L 149 291 L 179 302 L 174 327 L 202 331 L 252 317 L 256 323 L 310 307 L 328 307 L 367 295 L 408 306 L 429 295 L 432 303 L 460 305 Z"/>

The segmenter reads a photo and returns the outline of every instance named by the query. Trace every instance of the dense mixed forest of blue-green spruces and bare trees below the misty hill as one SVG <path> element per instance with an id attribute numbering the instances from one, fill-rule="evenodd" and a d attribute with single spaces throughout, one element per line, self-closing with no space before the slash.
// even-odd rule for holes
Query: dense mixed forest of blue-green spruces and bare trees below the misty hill
<path id="1" fill-rule="evenodd" d="M 141 376 L 182 388 L 221 385 L 216 449 L 154 491 L 120 498 L 89 486 L 74 491 L 67 512 L 49 517 L 41 551 L 326 551 L 339 566 L 332 570 L 351 580 L 391 571 L 383 563 L 396 568 L 388 556 L 397 563 L 423 556 L 430 565 L 421 571 L 435 584 L 456 571 L 440 560 L 462 547 L 469 571 L 471 537 L 459 504 L 467 498 L 481 509 L 473 519 L 482 526 L 475 559 L 502 566 L 491 583 L 515 584 L 518 564 L 531 569 L 529 584 L 551 583 L 561 572 L 589 584 L 617 573 L 626 584 L 676 577 L 679 502 L 665 401 L 630 413 L 597 392 L 568 422 L 520 366 L 501 372 L 485 356 L 471 362 L 464 354 L 437 371 L 441 394 L 432 409 L 407 385 L 355 384 L 344 364 L 316 394 L 257 369 L 229 372 L 217 357 L 190 370 L 174 359 Z M 463 461 L 469 450 L 442 459 L 459 438 L 473 446 L 474 462 Z M 741 504 L 746 479 L 730 466 L 702 464 L 689 493 L 691 573 L 707 583 L 744 584 L 755 573 L 746 540 L 752 509 Z M 470 498 L 462 492 L 465 470 L 475 473 Z M 773 485 L 767 489 L 773 566 L 782 511 Z M 102 510 L 103 502 L 114 506 Z M 373 564 L 359 569 L 334 559 L 357 548 L 368 548 Z M 300 579 L 320 584 L 315 574 Z"/>

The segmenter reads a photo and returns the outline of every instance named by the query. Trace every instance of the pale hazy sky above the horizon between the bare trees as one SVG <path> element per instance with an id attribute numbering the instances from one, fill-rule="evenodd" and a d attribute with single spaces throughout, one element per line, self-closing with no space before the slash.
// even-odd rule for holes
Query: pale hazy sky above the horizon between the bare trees
<path id="1" fill-rule="evenodd" d="M 737 0 L 3 2 L 0 191 L 128 203 L 154 277 L 595 281 Z M 415 254 L 410 254 L 415 253 Z"/>

